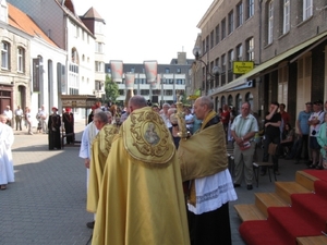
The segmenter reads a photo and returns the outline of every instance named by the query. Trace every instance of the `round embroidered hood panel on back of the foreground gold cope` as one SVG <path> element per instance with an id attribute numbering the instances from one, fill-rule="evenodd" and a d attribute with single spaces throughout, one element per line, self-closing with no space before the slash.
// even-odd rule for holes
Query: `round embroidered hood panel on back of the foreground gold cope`
<path id="1" fill-rule="evenodd" d="M 124 147 L 134 159 L 157 168 L 170 164 L 175 148 L 161 117 L 152 108 L 133 111 L 122 126 Z"/>

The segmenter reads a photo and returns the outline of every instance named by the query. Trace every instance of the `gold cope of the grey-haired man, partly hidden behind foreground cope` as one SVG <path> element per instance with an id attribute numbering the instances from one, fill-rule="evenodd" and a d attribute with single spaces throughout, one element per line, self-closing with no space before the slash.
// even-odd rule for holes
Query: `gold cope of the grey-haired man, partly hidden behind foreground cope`
<path id="1" fill-rule="evenodd" d="M 92 143 L 92 159 L 89 164 L 89 181 L 87 188 L 86 210 L 96 212 L 99 192 L 108 154 L 118 127 L 113 124 L 105 125 Z"/>

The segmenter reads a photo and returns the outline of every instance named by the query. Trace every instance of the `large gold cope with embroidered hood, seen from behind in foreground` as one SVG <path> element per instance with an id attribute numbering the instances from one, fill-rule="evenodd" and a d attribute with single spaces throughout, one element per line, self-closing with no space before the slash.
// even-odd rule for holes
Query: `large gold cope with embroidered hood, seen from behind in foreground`
<path id="1" fill-rule="evenodd" d="M 175 148 L 149 107 L 134 110 L 112 142 L 92 244 L 190 244 Z"/>

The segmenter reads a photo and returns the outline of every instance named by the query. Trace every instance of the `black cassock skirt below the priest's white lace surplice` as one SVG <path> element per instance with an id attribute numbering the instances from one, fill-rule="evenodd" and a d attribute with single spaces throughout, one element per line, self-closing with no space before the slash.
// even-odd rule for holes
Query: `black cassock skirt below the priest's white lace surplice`
<path id="1" fill-rule="evenodd" d="M 187 218 L 191 245 L 231 244 L 228 203 L 202 215 L 187 211 Z"/>

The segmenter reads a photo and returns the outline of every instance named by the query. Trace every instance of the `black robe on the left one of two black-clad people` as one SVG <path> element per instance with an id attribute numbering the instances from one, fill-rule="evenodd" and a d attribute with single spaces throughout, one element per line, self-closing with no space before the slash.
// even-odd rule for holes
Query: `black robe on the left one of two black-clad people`
<path id="1" fill-rule="evenodd" d="M 49 149 L 61 149 L 60 142 L 61 119 L 59 114 L 51 114 L 48 120 Z"/>

